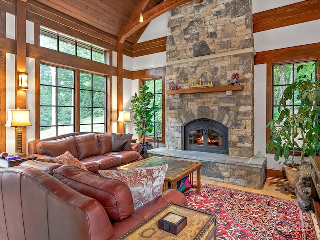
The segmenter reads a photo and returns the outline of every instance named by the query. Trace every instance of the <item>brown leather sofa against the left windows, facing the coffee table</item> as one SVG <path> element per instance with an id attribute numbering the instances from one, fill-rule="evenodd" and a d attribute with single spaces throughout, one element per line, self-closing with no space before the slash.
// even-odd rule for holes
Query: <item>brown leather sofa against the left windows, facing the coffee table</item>
<path id="1" fill-rule="evenodd" d="M 43 159 L 48 156 L 57 157 L 69 151 L 89 171 L 95 173 L 98 170 L 116 169 L 118 166 L 143 159 L 140 155 L 142 145 L 139 143 L 130 143 L 129 151 L 111 151 L 114 147 L 112 144 L 124 142 L 112 141 L 111 133 L 74 132 L 29 141 L 28 154 Z"/>

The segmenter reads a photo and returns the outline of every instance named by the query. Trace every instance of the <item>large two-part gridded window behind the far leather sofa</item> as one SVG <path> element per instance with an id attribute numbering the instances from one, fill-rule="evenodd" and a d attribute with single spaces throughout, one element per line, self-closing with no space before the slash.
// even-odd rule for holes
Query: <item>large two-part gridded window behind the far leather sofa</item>
<path id="1" fill-rule="evenodd" d="M 77 72 L 79 86 L 74 80 Z M 105 132 L 105 82 L 104 76 L 41 64 L 40 138 L 71 133 L 75 129 Z M 76 114 L 77 105 L 79 114 Z"/>

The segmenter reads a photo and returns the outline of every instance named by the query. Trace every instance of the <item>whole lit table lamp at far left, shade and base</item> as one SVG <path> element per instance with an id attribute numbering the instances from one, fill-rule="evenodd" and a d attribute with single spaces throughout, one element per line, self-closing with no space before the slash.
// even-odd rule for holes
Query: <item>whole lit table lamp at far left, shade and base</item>
<path id="1" fill-rule="evenodd" d="M 16 129 L 16 153 L 23 155 L 22 152 L 22 128 L 24 126 L 32 126 L 29 118 L 30 110 L 13 109 L 7 110 L 8 120 L 6 127 L 15 127 Z"/>

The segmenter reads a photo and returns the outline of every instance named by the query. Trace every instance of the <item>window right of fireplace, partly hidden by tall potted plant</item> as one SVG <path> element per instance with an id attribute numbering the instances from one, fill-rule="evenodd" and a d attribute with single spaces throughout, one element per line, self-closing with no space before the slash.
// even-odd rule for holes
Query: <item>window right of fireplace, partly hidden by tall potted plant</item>
<path id="1" fill-rule="evenodd" d="M 297 72 L 299 66 L 304 65 L 303 69 Z M 290 64 L 281 64 L 273 66 L 273 111 L 272 118 L 277 119 L 279 116 L 279 102 L 283 96 L 285 88 L 297 81 L 301 75 L 313 75 L 315 76 L 315 64 L 314 61 L 309 62 L 297 62 Z M 290 112 L 296 112 L 297 108 L 301 105 L 301 101 L 293 96 L 292 101 L 286 103 Z"/>

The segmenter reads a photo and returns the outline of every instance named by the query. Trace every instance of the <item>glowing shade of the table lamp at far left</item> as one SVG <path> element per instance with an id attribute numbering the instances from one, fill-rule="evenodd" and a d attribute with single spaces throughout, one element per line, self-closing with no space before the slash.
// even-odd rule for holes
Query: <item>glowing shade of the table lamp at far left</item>
<path id="1" fill-rule="evenodd" d="M 30 110 L 9 109 L 7 112 L 8 120 L 5 124 L 6 127 L 32 126 L 29 118 Z"/>

